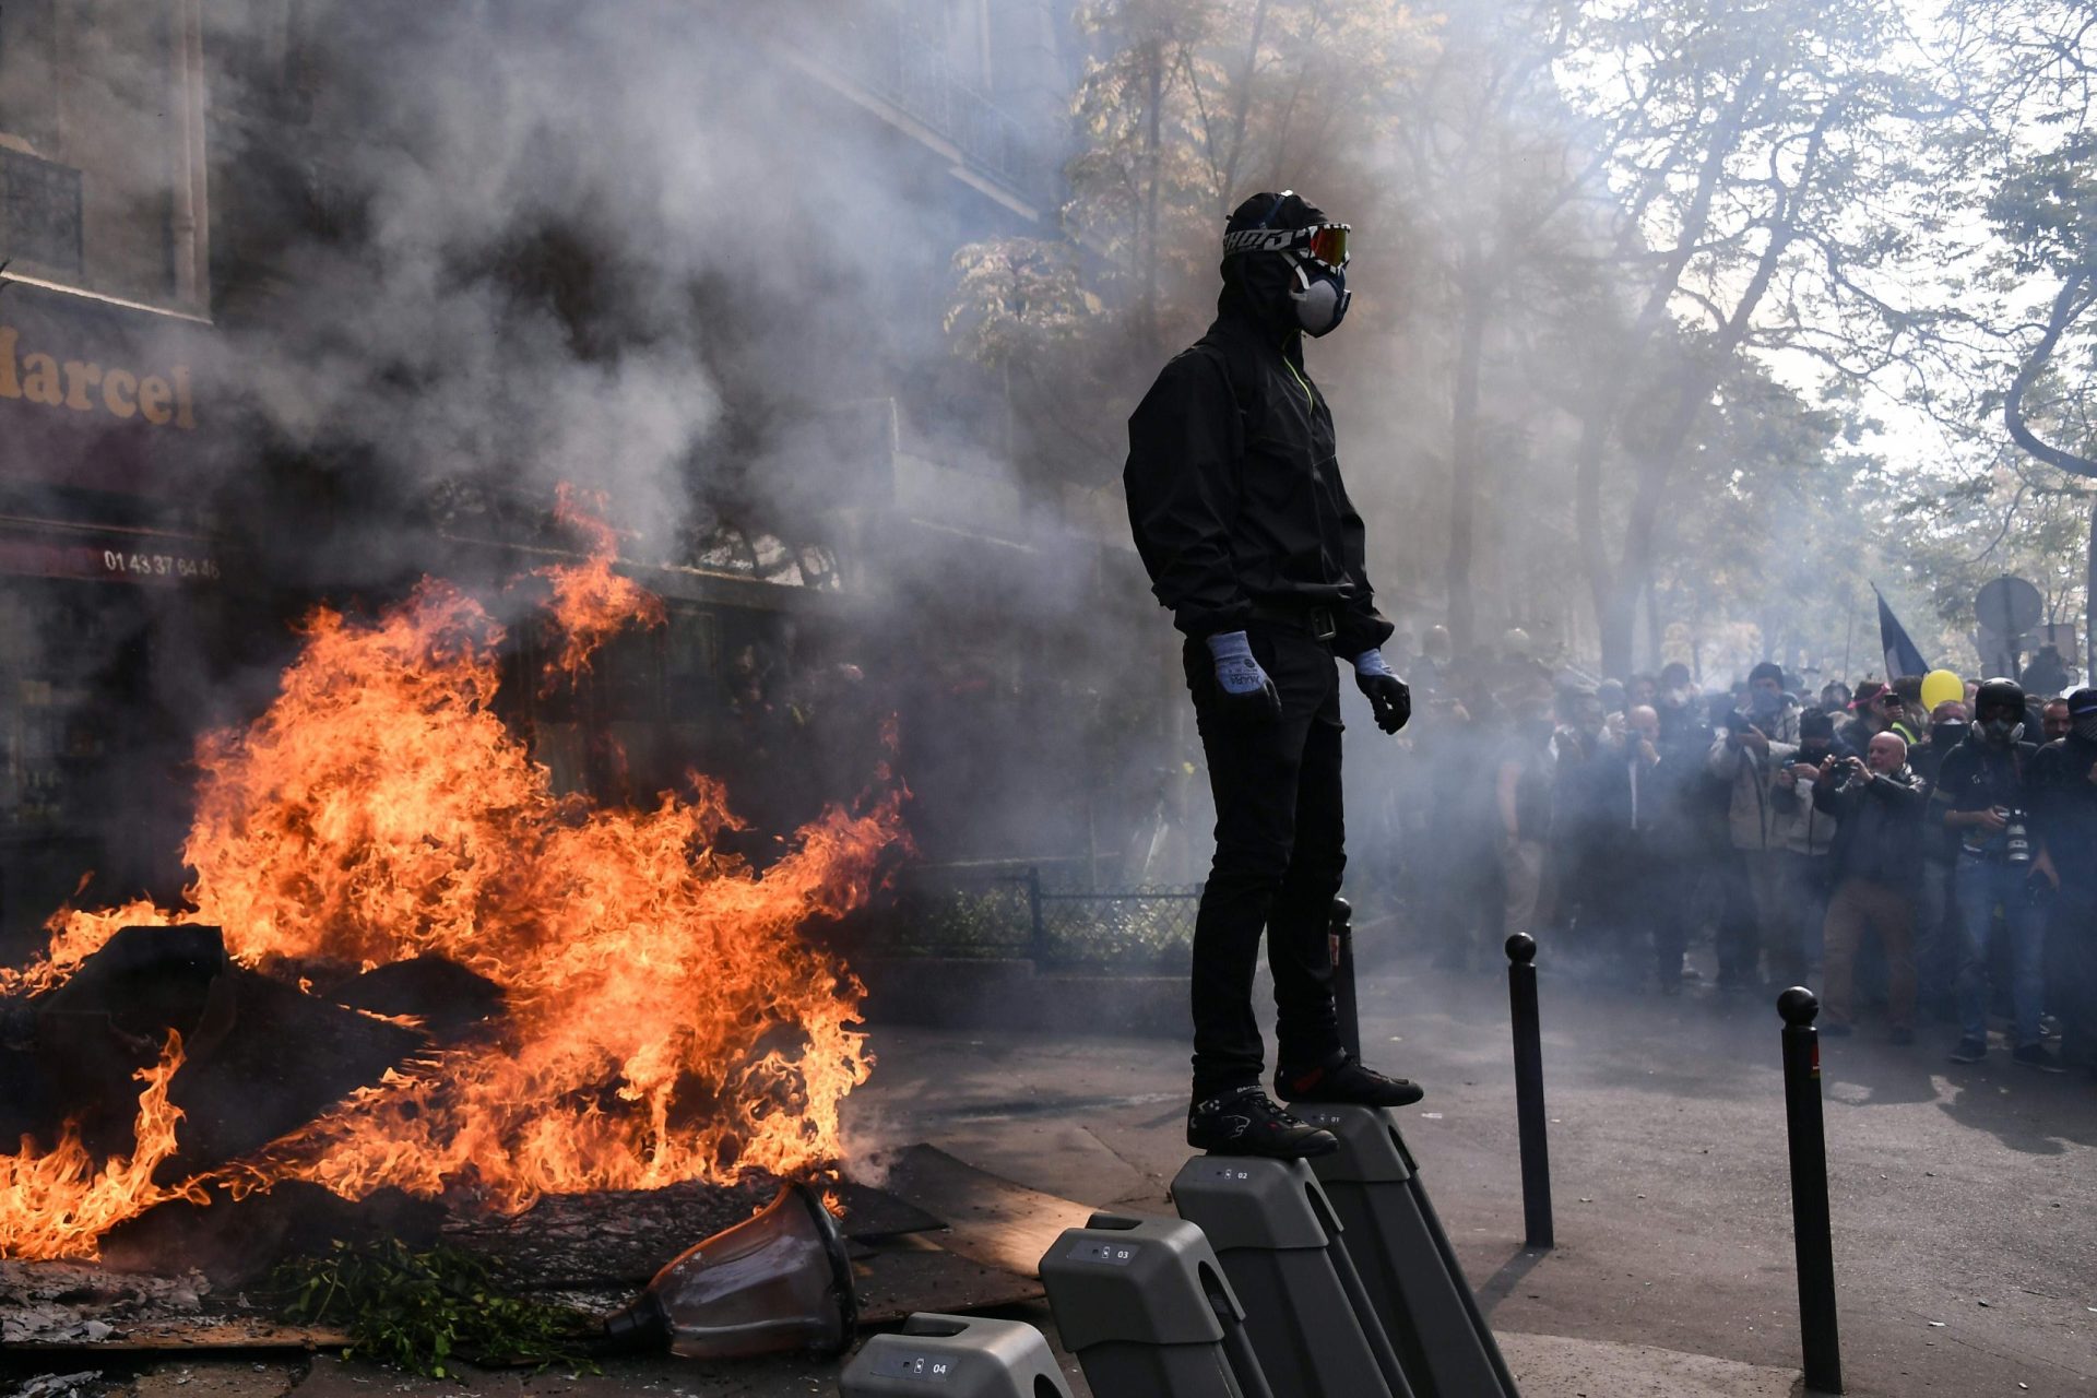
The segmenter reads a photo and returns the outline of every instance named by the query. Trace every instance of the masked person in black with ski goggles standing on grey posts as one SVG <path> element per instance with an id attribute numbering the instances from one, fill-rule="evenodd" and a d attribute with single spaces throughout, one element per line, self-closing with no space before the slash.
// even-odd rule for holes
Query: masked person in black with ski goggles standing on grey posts
<path id="1" fill-rule="evenodd" d="M 1294 1102 L 1403 1107 L 1422 1092 L 1340 1048 L 1325 929 L 1346 864 L 1340 683 L 1355 667 L 1378 727 L 1411 696 L 1363 570 L 1332 411 L 1302 337 L 1346 314 L 1346 226 L 1292 193 L 1254 195 L 1225 228 L 1216 323 L 1128 419 L 1128 520 L 1185 633 L 1187 687 L 1216 799 L 1216 859 L 1193 939 L 1187 1142 L 1229 1155 L 1338 1149 L 1260 1090 L 1252 979 L 1267 933 L 1275 1088 Z"/>

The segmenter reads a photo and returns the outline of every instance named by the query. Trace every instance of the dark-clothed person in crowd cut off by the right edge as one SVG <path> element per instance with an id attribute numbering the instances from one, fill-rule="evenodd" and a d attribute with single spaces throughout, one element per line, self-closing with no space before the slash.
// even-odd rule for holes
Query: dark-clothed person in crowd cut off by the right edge
<path id="1" fill-rule="evenodd" d="M 2097 1073 L 2097 690 L 2076 690 L 2066 704 L 2068 731 L 2032 759 L 2034 815 L 2061 880 L 2047 918 L 2047 979 L 2061 1058 Z"/>

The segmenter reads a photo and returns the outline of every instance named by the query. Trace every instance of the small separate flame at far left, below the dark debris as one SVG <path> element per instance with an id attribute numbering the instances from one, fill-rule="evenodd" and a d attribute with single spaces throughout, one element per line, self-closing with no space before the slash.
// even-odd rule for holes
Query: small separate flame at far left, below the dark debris
<path id="1" fill-rule="evenodd" d="M 0 1155 L 0 1258 L 94 1255 L 94 1239 L 111 1224 L 166 1199 L 201 1199 L 195 1184 L 153 1184 L 153 1172 L 174 1155 L 174 1128 L 182 1119 L 182 1111 L 168 1105 L 168 1082 L 178 1067 L 182 1040 L 170 1033 L 159 1063 L 136 1073 L 145 1092 L 128 1157 L 96 1170 L 73 1128 L 65 1128 L 48 1155 L 36 1155 L 29 1138 L 17 1155 Z"/>

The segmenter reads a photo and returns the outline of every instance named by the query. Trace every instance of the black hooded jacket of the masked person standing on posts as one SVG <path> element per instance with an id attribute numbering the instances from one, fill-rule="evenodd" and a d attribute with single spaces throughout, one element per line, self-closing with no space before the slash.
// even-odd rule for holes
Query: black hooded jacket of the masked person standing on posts
<path id="1" fill-rule="evenodd" d="M 1151 591 L 1189 637 L 1241 631 L 1254 606 L 1332 608 L 1338 656 L 1390 635 L 1302 335 L 1235 287 L 1128 419 L 1122 484 Z"/>

